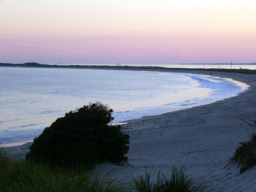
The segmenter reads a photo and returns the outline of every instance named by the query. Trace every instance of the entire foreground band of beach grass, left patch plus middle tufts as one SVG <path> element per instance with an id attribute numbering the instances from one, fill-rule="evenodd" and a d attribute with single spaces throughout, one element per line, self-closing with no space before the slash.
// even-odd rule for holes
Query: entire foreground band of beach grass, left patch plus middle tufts
<path id="1" fill-rule="evenodd" d="M 103 179 L 93 168 L 76 166 L 76 169 L 50 168 L 47 164 L 35 164 L 22 158 L 12 158 L 0 149 L 0 191 L 88 191 L 88 192 L 205 192 L 208 182 L 189 179 L 185 167 L 173 168 L 172 176 L 160 176 L 150 182 L 150 173 L 131 181 L 121 181 L 109 173 Z"/>

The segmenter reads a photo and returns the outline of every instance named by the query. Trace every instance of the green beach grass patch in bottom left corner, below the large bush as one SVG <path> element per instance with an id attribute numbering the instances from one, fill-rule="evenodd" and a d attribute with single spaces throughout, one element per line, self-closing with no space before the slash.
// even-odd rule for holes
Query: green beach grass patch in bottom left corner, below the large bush
<path id="1" fill-rule="evenodd" d="M 38 165 L 24 159 L 14 159 L 0 151 L 0 191 L 132 191 L 129 183 L 111 179 L 99 179 L 91 168 L 63 170 Z"/>

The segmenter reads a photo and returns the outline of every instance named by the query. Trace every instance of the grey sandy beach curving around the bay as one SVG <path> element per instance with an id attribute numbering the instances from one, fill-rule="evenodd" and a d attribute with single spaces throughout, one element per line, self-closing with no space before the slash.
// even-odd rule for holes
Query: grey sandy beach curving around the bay
<path id="1" fill-rule="evenodd" d="M 174 165 L 185 165 L 191 177 L 211 181 L 216 191 L 255 191 L 256 168 L 239 174 L 237 165 L 228 161 L 239 142 L 248 141 L 252 132 L 252 127 L 239 118 L 256 119 L 256 75 L 212 72 L 212 76 L 231 78 L 250 87 L 236 97 L 215 103 L 127 121 L 122 129 L 130 135 L 129 164 L 98 165 L 96 171 L 100 171 L 100 176 L 112 171 L 122 179 L 132 180 L 132 174 L 137 177 L 151 171 L 153 182 L 160 169 L 168 178 Z M 24 157 L 28 145 L 6 147 L 5 150 Z"/>

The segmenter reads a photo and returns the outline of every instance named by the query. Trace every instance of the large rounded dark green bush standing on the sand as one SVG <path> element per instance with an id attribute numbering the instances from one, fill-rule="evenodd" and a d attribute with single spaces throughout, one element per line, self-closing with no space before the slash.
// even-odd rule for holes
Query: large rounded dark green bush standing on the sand
<path id="1" fill-rule="evenodd" d="M 96 102 L 66 113 L 34 139 L 26 158 L 65 166 L 126 161 L 129 135 L 109 125 L 112 112 Z"/>

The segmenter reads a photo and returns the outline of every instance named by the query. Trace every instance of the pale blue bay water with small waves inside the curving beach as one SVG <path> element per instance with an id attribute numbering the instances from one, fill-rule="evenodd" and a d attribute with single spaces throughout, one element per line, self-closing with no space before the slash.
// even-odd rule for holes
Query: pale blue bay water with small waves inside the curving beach
<path id="1" fill-rule="evenodd" d="M 38 136 L 90 101 L 108 103 L 120 122 L 233 97 L 244 87 L 185 73 L 0 67 L 0 144 Z"/>

